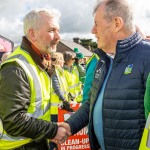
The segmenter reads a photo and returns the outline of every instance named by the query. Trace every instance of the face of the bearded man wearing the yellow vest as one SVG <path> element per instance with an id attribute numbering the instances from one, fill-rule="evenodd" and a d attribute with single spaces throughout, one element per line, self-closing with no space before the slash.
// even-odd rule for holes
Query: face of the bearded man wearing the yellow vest
<path id="1" fill-rule="evenodd" d="M 58 19 L 50 18 L 44 14 L 39 29 L 31 29 L 32 42 L 41 53 L 54 53 L 60 40 Z"/>

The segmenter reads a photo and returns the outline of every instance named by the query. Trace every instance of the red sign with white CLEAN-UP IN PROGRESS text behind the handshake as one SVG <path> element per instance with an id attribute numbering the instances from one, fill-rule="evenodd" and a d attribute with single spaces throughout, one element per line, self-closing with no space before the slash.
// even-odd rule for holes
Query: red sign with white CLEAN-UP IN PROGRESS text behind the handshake
<path id="1" fill-rule="evenodd" d="M 80 103 L 71 104 L 71 107 L 76 111 L 80 107 Z M 67 120 L 73 112 L 68 112 L 63 109 L 58 109 L 58 122 L 63 122 Z M 58 150 L 90 150 L 89 137 L 87 135 L 87 127 L 80 130 L 73 136 L 68 137 L 68 139 L 58 146 Z"/>

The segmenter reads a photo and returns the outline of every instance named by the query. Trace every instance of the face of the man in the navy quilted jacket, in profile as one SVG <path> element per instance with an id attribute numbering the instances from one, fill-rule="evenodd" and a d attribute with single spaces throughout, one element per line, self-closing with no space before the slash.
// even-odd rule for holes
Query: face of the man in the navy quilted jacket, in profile
<path id="1" fill-rule="evenodd" d="M 92 33 L 97 38 L 98 48 L 110 53 L 116 44 L 114 41 L 113 20 L 108 22 L 104 17 L 104 13 L 104 5 L 101 5 L 95 13 L 95 24 L 92 28 Z"/>

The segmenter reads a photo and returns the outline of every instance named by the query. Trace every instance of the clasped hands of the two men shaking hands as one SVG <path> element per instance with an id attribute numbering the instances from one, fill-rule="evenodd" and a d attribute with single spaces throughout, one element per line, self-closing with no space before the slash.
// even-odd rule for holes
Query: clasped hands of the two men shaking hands
<path id="1" fill-rule="evenodd" d="M 65 122 L 57 123 L 57 125 L 58 125 L 57 134 L 51 141 L 56 144 L 61 144 L 67 140 L 68 136 L 71 136 L 71 129 L 70 125 Z"/>

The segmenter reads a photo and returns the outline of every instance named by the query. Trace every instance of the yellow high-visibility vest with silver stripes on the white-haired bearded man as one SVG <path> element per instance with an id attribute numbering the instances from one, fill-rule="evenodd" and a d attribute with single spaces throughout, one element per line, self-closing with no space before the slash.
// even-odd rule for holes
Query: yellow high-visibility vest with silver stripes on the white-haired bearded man
<path id="1" fill-rule="evenodd" d="M 50 121 L 50 78 L 48 74 L 38 68 L 28 52 L 18 47 L 5 61 L 2 66 L 9 62 L 17 62 L 25 71 L 30 84 L 30 105 L 27 116 Z M 12 150 L 14 148 L 32 142 L 32 139 L 25 137 L 13 137 L 3 132 L 0 139 L 0 150 Z"/>

